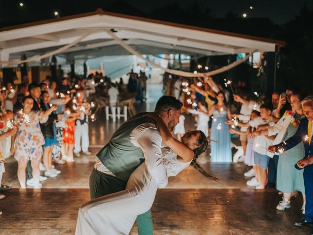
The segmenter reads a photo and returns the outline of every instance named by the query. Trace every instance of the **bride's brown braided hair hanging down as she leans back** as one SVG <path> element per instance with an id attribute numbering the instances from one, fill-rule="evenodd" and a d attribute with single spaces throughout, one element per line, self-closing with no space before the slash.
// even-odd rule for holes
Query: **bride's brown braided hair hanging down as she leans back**
<path id="1" fill-rule="evenodd" d="M 200 131 L 200 137 L 199 137 L 198 143 L 200 144 L 200 146 L 193 150 L 194 153 L 195 153 L 195 156 L 194 156 L 194 159 L 191 162 L 191 165 L 193 167 L 195 167 L 195 169 L 198 170 L 205 177 L 207 177 L 207 178 L 209 178 L 211 180 L 218 181 L 219 180 L 218 178 L 216 178 L 210 172 L 205 171 L 197 162 L 198 157 L 203 152 L 205 152 L 205 150 L 207 149 L 207 146 L 208 146 L 208 140 L 206 139 L 206 136 L 204 135 L 204 133 L 202 131 Z"/>

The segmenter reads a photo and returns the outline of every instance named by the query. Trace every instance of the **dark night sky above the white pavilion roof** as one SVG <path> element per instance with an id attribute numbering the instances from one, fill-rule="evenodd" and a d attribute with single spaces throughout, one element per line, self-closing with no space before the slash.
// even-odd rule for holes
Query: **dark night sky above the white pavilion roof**
<path id="1" fill-rule="evenodd" d="M 313 9 L 313 0 L 196 0 L 201 6 L 209 7 L 215 18 L 224 18 L 227 12 L 242 16 L 244 13 L 250 18 L 267 17 L 276 24 L 290 21 L 300 12 L 304 3 Z M 22 2 L 23 7 L 19 6 Z M 149 15 L 153 10 L 178 2 L 182 8 L 188 8 L 192 0 L 1 0 L 0 26 L 8 26 L 54 18 L 54 11 L 62 16 L 95 11 L 102 8 L 116 11 L 123 2 L 133 9 L 138 9 Z M 124 4 L 126 5 L 126 4 Z M 251 10 L 249 7 L 252 6 Z M 135 11 L 135 10 L 134 10 Z M 193 14 L 197 14 L 194 12 Z M 136 14 L 134 14 L 136 15 Z M 181 16 L 183 17 L 183 16 Z"/>

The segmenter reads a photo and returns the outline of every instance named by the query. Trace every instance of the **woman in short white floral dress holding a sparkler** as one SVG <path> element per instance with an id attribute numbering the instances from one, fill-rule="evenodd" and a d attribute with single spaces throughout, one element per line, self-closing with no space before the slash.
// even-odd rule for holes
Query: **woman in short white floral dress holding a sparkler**
<path id="1" fill-rule="evenodd" d="M 33 104 L 34 99 L 25 96 L 22 99 L 22 110 L 14 115 L 13 125 L 18 132 L 12 137 L 11 152 L 18 161 L 18 179 L 21 188 L 26 188 L 25 169 L 29 160 L 33 168 L 34 188 L 41 188 L 39 163 L 43 156 L 42 145 L 45 144 L 45 139 L 39 123 L 45 123 L 48 116 L 57 109 L 57 106 L 52 106 L 46 111 L 32 111 Z"/>

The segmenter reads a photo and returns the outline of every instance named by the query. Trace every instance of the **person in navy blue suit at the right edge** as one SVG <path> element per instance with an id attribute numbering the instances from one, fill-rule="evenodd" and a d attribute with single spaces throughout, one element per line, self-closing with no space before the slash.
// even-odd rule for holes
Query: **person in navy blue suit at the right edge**
<path id="1" fill-rule="evenodd" d="M 301 221 L 296 221 L 294 225 L 303 226 L 313 224 L 313 164 L 308 164 L 311 161 L 311 155 L 313 154 L 313 96 L 307 96 L 301 102 L 303 114 L 306 118 L 302 118 L 296 133 L 286 141 L 279 144 L 268 147 L 270 152 L 283 153 L 295 146 L 300 142 L 303 142 L 305 149 L 304 159 L 297 162 L 297 169 L 304 168 L 304 188 L 306 194 L 306 205 L 305 205 L 305 218 Z"/>

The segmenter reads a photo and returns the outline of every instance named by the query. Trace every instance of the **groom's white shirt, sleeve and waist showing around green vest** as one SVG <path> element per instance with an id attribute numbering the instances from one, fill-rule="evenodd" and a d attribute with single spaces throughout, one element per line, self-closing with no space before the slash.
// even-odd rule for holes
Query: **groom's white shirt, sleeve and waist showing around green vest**
<path id="1" fill-rule="evenodd" d="M 158 188 L 164 188 L 167 185 L 167 176 L 162 161 L 162 138 L 156 125 L 153 123 L 140 124 L 131 132 L 130 141 L 134 146 L 141 148 L 145 164 Z M 115 176 L 98 158 L 94 168 L 105 174 Z"/>

